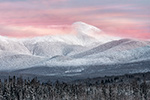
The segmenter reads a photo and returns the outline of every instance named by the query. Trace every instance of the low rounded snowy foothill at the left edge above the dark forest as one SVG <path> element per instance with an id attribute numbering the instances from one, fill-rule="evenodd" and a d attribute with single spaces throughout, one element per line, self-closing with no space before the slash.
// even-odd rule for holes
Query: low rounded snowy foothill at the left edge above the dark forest
<path id="1" fill-rule="evenodd" d="M 23 55 L 23 54 L 9 54 L 7 56 L 0 57 L 0 70 L 14 70 L 30 68 L 40 65 L 45 58 Z"/>

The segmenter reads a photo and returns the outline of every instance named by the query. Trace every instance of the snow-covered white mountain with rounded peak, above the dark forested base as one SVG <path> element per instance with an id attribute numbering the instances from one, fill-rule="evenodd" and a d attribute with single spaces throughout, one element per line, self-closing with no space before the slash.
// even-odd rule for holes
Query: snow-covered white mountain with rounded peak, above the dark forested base
<path id="1" fill-rule="evenodd" d="M 84 72 L 85 66 L 145 61 L 150 61 L 149 41 L 109 36 L 97 27 L 83 22 L 72 24 L 72 32 L 65 35 L 27 39 L 0 36 L 0 70 L 46 66 L 53 69 L 65 68 L 64 73 L 68 74 Z"/>

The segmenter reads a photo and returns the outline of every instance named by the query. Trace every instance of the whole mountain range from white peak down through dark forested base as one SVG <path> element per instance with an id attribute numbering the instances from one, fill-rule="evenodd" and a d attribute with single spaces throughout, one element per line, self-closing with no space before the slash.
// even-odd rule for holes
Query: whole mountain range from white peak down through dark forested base
<path id="1" fill-rule="evenodd" d="M 70 34 L 63 35 L 0 36 L 0 77 L 17 74 L 67 80 L 150 71 L 150 41 L 109 36 L 83 22 L 71 28 Z"/>

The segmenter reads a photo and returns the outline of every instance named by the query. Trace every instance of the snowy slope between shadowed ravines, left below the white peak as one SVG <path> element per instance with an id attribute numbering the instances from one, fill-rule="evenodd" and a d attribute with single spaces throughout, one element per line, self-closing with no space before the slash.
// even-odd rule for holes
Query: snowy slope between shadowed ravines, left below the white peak
<path id="1" fill-rule="evenodd" d="M 69 45 L 61 42 L 37 42 L 25 43 L 32 55 L 53 57 L 56 55 L 68 55 L 69 53 L 85 49 L 83 46 Z"/>

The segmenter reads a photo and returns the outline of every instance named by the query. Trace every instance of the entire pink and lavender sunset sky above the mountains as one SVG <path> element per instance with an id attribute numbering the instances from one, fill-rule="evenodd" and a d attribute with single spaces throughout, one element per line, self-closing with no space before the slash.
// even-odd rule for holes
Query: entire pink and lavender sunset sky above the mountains
<path id="1" fill-rule="evenodd" d="M 65 34 L 83 21 L 109 35 L 150 39 L 149 5 L 149 0 L 0 0 L 0 35 Z"/>

